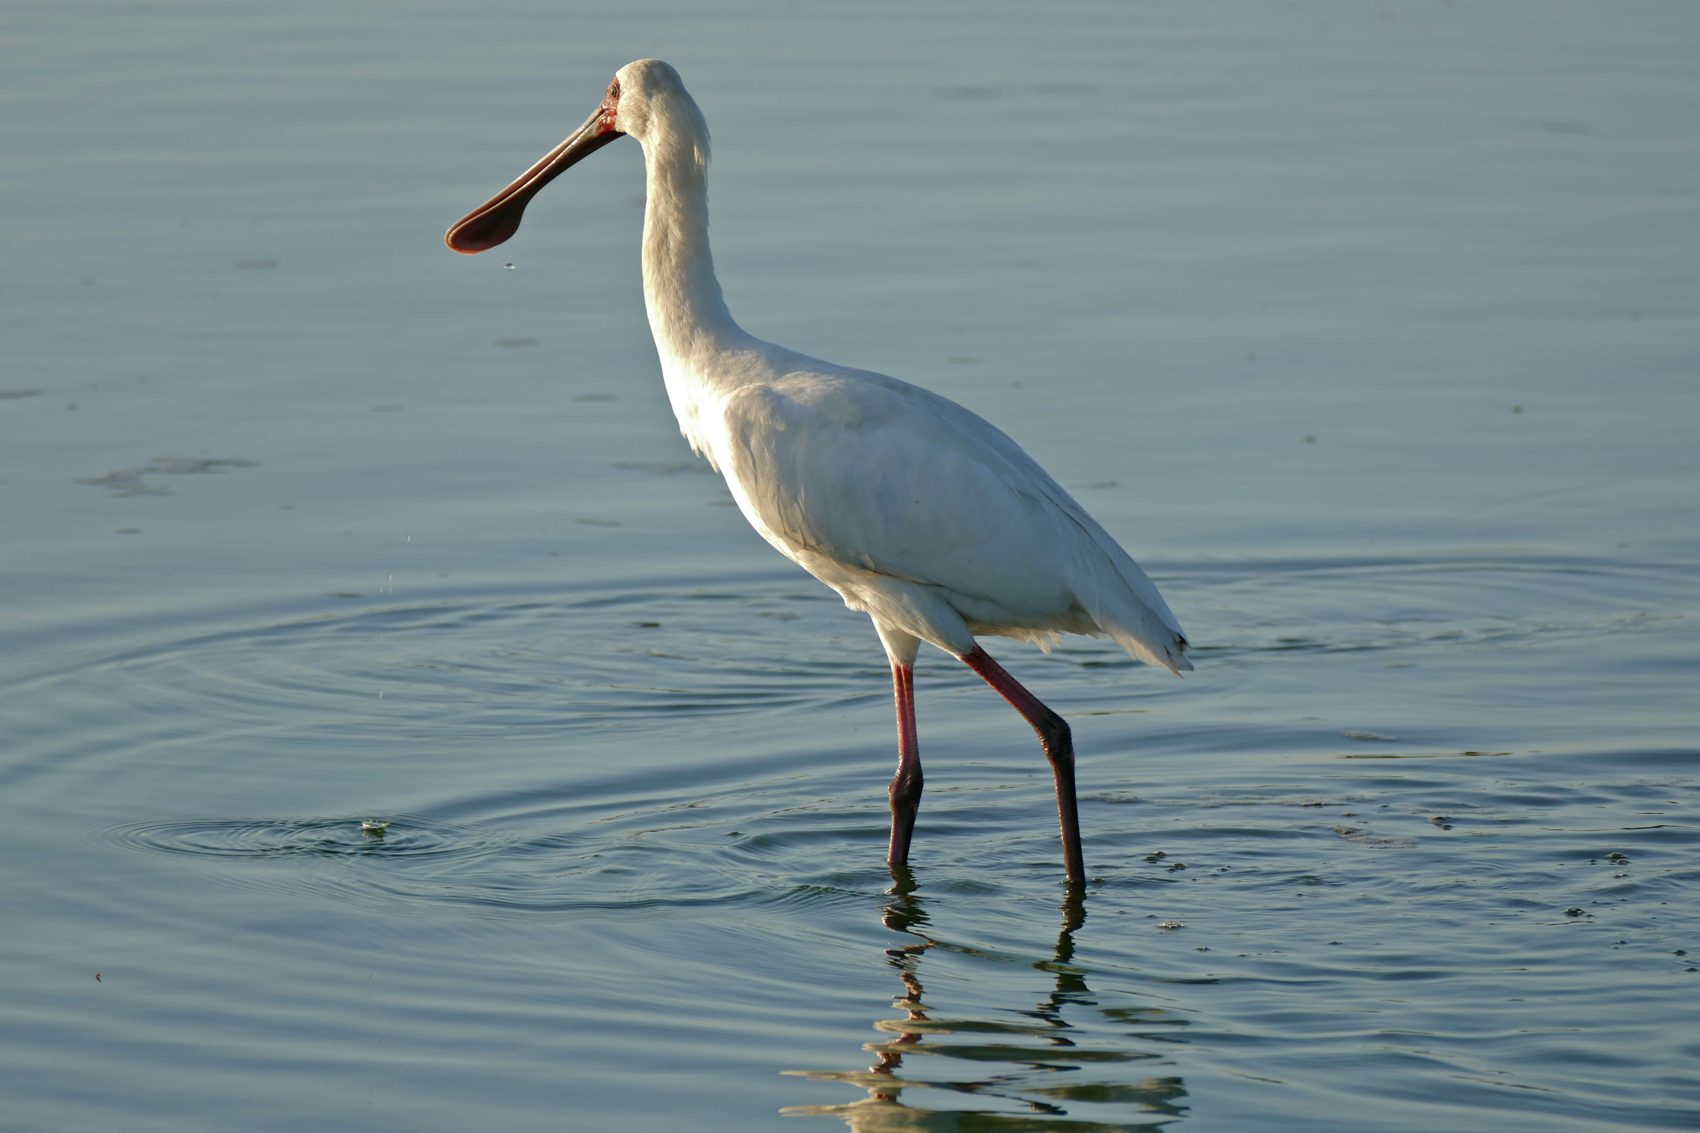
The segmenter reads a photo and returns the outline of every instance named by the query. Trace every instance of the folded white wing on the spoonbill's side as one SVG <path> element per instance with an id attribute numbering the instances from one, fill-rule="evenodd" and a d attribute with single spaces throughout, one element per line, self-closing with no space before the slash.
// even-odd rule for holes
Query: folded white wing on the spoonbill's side
<path id="1" fill-rule="evenodd" d="M 1134 656 L 1185 664 L 1151 581 L 1020 445 L 920 387 L 821 369 L 726 403 L 728 472 L 763 535 L 1012 618 L 1085 608 Z"/>

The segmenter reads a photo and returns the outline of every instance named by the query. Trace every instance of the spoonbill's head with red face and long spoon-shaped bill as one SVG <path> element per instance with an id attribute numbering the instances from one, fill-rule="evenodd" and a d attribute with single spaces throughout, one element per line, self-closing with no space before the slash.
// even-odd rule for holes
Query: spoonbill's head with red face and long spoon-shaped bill
<path id="1" fill-rule="evenodd" d="M 444 243 L 473 255 L 495 248 L 515 231 L 525 206 L 544 185 L 615 138 L 631 134 L 644 148 L 678 134 L 695 143 L 699 165 L 707 165 L 709 131 L 702 112 L 685 92 L 678 71 L 661 59 L 638 59 L 614 75 L 595 112 L 566 141 L 525 170 L 518 180 L 468 212 L 449 229 Z"/>

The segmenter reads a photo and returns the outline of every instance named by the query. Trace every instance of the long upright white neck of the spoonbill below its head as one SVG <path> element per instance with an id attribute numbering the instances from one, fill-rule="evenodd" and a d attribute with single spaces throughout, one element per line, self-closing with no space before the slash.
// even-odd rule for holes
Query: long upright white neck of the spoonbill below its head
<path id="1" fill-rule="evenodd" d="M 692 121 L 695 119 L 695 122 Z M 643 296 L 668 389 L 706 380 L 748 335 L 733 321 L 709 253 L 709 139 L 700 116 L 661 114 L 644 146 Z M 702 134 L 702 136 L 699 136 Z M 678 401 L 675 396 L 675 409 Z"/>

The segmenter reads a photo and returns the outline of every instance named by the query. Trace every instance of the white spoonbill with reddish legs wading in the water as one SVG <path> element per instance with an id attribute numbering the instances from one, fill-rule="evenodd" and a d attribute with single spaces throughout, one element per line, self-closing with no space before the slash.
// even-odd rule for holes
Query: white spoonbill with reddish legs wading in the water
<path id="1" fill-rule="evenodd" d="M 1057 634 L 1108 635 L 1178 676 L 1192 669 L 1180 622 L 1127 552 L 989 423 L 733 321 L 709 255 L 709 127 L 666 63 L 622 66 L 595 114 L 445 243 L 468 255 L 500 245 L 539 189 L 622 134 L 644 153 L 643 294 L 680 430 L 762 538 L 874 620 L 891 659 L 898 773 L 887 860 L 908 863 L 921 800 L 913 666 L 928 642 L 1039 732 L 1056 775 L 1068 880 L 1083 883 L 1069 727 L 974 637 L 1049 649 Z"/>

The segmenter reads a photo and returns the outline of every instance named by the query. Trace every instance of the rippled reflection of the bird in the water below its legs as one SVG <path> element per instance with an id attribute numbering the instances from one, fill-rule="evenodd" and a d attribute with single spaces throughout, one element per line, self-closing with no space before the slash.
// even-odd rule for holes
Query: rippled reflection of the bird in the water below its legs
<path id="1" fill-rule="evenodd" d="M 864 1050 L 879 1055 L 879 1062 L 860 1074 L 824 1070 L 787 1072 L 823 1082 L 860 1085 L 869 1094 L 865 1099 L 847 1106 L 790 1106 L 780 1113 L 790 1116 L 843 1118 L 855 1133 L 944 1133 L 947 1130 L 962 1133 L 972 1133 L 974 1130 L 996 1130 L 1003 1133 L 1013 1133 L 1015 1130 L 1088 1133 L 1091 1130 L 1158 1130 L 1185 1113 L 1180 1099 L 1187 1096 L 1187 1091 L 1178 1077 L 1148 1077 L 1120 1082 L 1059 1082 L 1059 1079 L 1066 1077 L 1066 1072 L 1080 1072 L 1095 1063 L 1124 1063 L 1159 1057 L 1148 1051 L 1103 1048 L 1100 1045 L 1081 1046 L 1078 1038 L 1071 1036 L 1076 1026 L 1064 1019 L 1064 1011 L 1068 1007 L 1098 1006 L 1091 989 L 1086 987 L 1085 972 L 1071 963 L 1074 956 L 1074 929 L 1086 922 L 1086 904 L 1078 890 L 1071 888 L 1062 902 L 1062 927 L 1057 933 L 1052 958 L 1032 963 L 1034 968 L 1049 972 L 1054 977 L 1054 987 L 1032 1011 L 1012 1012 L 1022 1019 L 1020 1023 L 935 1019 L 932 1017 L 933 1009 L 921 999 L 921 958 L 933 948 L 962 950 L 926 936 L 925 926 L 928 917 L 925 902 L 915 892 L 915 875 L 906 866 L 892 866 L 891 875 L 896 885 L 889 890 L 891 899 L 882 909 L 884 924 L 892 933 L 915 938 L 915 943 L 886 950 L 886 963 L 896 968 L 898 978 L 903 980 L 903 995 L 892 1006 L 901 1009 L 904 1017 L 882 1019 L 874 1028 L 896 1038 L 882 1043 L 867 1043 Z M 1134 1012 L 1137 1016 L 1166 1014 L 1153 1009 L 1134 1009 Z M 1107 1021 L 1122 1026 L 1132 1021 L 1127 1009 L 1108 1009 L 1100 1014 Z M 1137 1021 L 1154 1023 L 1158 1019 L 1139 1017 Z M 1182 1023 L 1180 1019 L 1161 1021 Z M 945 1036 L 996 1038 L 991 1041 L 949 1041 Z M 903 1075 L 903 1060 L 910 1058 L 913 1065 L 913 1058 L 920 1055 L 959 1058 L 969 1063 L 1013 1063 L 1018 1068 L 969 1080 Z M 986 1101 L 996 1099 L 1003 1102 L 1003 1108 L 923 1109 L 901 1101 L 904 1089 L 935 1089 L 952 1094 L 969 1094 Z M 1069 1106 L 1076 1109 L 1074 1116 L 1071 1116 Z M 1081 1108 L 1095 1109 L 1110 1119 L 1096 1119 L 1096 1114 L 1083 1118 L 1078 1113 Z M 1137 1119 L 1139 1116 L 1148 1116 L 1148 1119 Z M 1149 1116 L 1156 1119 L 1149 1119 Z M 1129 1123 L 1125 1118 L 1136 1119 Z"/>

